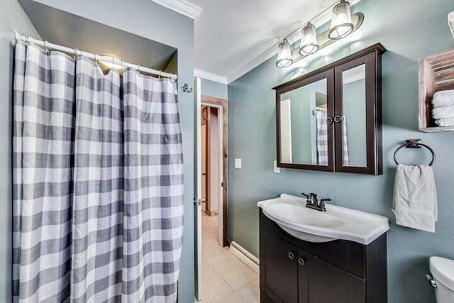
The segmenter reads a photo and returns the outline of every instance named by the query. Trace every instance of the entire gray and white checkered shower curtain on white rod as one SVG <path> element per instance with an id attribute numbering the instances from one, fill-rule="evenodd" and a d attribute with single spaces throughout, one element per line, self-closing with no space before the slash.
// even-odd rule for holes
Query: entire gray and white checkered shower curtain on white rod
<path id="1" fill-rule="evenodd" d="M 175 302 L 176 83 L 16 45 L 13 301 Z"/>

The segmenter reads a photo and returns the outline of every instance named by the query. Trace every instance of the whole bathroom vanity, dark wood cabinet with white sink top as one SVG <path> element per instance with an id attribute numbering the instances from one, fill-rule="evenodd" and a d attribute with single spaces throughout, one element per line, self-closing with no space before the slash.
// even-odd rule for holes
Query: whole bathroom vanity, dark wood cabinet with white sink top
<path id="1" fill-rule="evenodd" d="M 260 301 L 387 302 L 389 220 L 281 194 L 260 208 Z"/>

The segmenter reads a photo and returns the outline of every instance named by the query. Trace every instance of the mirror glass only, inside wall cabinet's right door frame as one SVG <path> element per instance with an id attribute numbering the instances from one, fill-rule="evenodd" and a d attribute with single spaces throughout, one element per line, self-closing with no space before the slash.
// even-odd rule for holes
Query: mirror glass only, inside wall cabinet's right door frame
<path id="1" fill-rule="evenodd" d="M 367 166 L 365 65 L 342 73 L 343 166 Z"/>

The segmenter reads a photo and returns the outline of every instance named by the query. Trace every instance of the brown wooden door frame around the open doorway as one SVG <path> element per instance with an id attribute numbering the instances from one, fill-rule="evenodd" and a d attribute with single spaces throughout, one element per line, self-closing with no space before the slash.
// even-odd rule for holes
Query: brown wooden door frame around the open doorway
<path id="1" fill-rule="evenodd" d="M 219 180 L 221 180 L 221 190 L 219 191 L 219 205 L 218 218 L 221 224 L 221 231 L 219 232 L 218 239 L 222 246 L 228 246 L 228 106 L 226 99 L 220 99 L 209 96 L 201 96 L 201 106 L 210 106 L 218 109 L 218 117 L 222 120 L 222 127 L 219 128 L 219 153 L 221 155 L 219 161 Z M 200 110 L 200 109 L 199 109 Z M 201 126 L 198 126 L 201 127 Z M 222 226 L 221 226 L 222 225 Z"/>

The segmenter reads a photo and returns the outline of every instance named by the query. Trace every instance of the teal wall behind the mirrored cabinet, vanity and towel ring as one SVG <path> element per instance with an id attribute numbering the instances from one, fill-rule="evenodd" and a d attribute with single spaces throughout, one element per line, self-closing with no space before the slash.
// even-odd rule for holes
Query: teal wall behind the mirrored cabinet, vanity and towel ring
<path id="1" fill-rule="evenodd" d="M 388 238 L 390 303 L 434 302 L 424 274 L 428 257 L 454 259 L 454 133 L 420 133 L 418 128 L 418 59 L 454 47 L 446 15 L 452 0 L 362 0 L 354 11 L 365 13 L 360 30 L 316 54 L 280 70 L 275 57 L 229 84 L 229 238 L 258 255 L 258 208 L 262 199 L 282 192 L 299 195 L 317 192 L 333 203 L 382 214 L 391 219 Z M 373 43 L 388 49 L 383 55 L 383 161 L 382 176 L 333 174 L 304 170 L 272 171 L 276 158 L 275 94 L 272 87 L 292 77 L 299 68 L 314 70 Z M 322 54 L 323 54 L 322 53 Z M 392 190 L 396 165 L 392 155 L 406 138 L 422 138 L 436 150 L 433 165 L 438 189 L 439 218 L 436 233 L 395 225 Z M 425 162 L 422 150 L 402 152 L 402 160 Z M 233 169 L 233 159 L 243 169 Z"/>

